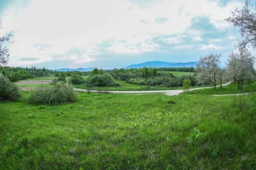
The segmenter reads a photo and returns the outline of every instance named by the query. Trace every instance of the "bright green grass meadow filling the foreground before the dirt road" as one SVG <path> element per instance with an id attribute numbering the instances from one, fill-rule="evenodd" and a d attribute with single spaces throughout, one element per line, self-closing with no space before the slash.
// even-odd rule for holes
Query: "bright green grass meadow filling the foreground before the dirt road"
<path id="1" fill-rule="evenodd" d="M 255 95 L 80 93 L 0 110 L 3 170 L 256 169 Z"/>

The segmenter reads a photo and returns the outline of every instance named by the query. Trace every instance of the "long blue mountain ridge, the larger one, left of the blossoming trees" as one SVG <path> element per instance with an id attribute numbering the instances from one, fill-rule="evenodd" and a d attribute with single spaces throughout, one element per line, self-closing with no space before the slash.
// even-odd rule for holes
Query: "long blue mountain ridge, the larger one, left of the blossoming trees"
<path id="1" fill-rule="evenodd" d="M 143 62 L 140 64 L 133 64 L 126 66 L 124 68 L 143 68 L 145 67 L 155 67 L 155 68 L 164 68 L 164 67 L 196 67 L 198 62 L 163 62 L 163 61 L 150 61 Z"/>

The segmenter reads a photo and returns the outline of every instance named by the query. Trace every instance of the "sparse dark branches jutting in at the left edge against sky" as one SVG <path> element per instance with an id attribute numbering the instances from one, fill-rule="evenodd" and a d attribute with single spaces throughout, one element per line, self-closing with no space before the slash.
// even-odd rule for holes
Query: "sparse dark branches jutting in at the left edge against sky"
<path id="1" fill-rule="evenodd" d="M 3 28 L 1 27 L 1 23 L 2 23 L 2 20 L 0 20 L 0 29 Z M 3 42 L 5 41 L 9 42 L 10 37 L 12 37 L 12 32 L 3 38 L 0 37 L 0 66 L 7 65 L 9 62 L 9 55 L 10 55 L 8 54 L 9 48 L 3 47 Z"/>

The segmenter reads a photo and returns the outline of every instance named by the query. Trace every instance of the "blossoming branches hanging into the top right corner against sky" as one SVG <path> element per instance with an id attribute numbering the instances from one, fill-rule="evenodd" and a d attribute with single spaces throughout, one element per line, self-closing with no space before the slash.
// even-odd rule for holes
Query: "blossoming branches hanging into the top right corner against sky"
<path id="1" fill-rule="evenodd" d="M 253 49 L 256 49 L 256 13 L 252 12 L 251 9 L 253 5 L 250 4 L 251 0 L 245 0 L 245 6 L 241 10 L 238 8 L 235 9 L 235 12 L 232 12 L 233 17 L 229 17 L 225 19 L 234 24 L 234 26 L 238 26 L 239 32 L 241 36 L 244 37 L 243 40 L 239 41 L 238 47 L 240 49 L 245 49 L 245 46 L 248 43 L 251 44 Z M 250 9 L 251 8 L 251 9 Z M 249 45 L 248 45 L 249 46 Z"/>

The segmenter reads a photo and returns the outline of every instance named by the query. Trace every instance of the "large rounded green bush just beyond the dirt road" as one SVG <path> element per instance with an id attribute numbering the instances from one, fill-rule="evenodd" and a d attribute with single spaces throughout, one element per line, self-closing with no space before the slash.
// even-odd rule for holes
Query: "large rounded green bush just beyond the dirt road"
<path id="1" fill-rule="evenodd" d="M 109 86 L 120 86 L 119 82 L 115 82 L 109 74 L 95 75 L 87 79 L 86 85 L 88 87 L 109 87 Z"/>

